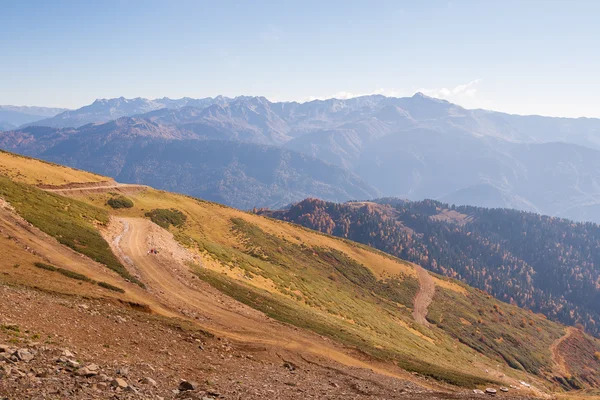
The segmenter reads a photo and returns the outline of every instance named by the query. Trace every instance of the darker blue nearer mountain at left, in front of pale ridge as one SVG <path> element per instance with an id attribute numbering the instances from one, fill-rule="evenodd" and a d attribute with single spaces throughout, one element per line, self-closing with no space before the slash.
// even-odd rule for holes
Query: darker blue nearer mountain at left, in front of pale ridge
<path id="1" fill-rule="evenodd" d="M 194 132 L 141 118 L 75 130 L 24 128 L 4 134 L 0 147 L 238 208 L 280 207 L 307 196 L 345 201 L 378 195 L 353 173 L 310 156 L 200 140 Z"/>

